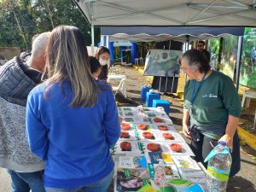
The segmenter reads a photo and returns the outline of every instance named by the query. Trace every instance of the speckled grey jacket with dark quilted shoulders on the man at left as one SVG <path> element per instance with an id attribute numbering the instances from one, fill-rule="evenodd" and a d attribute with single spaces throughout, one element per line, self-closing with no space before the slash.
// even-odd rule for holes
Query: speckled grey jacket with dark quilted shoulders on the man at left
<path id="1" fill-rule="evenodd" d="M 19 58 L 0 67 L 0 166 L 15 172 L 38 172 L 44 162 L 32 154 L 26 140 L 26 98 L 41 73 Z"/>

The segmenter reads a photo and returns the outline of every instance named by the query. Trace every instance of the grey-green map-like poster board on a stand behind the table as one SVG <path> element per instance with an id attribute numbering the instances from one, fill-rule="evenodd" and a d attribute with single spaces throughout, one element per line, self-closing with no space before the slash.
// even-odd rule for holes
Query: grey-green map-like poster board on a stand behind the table
<path id="1" fill-rule="evenodd" d="M 181 50 L 149 49 L 143 75 L 179 77 L 177 60 L 182 53 Z"/>

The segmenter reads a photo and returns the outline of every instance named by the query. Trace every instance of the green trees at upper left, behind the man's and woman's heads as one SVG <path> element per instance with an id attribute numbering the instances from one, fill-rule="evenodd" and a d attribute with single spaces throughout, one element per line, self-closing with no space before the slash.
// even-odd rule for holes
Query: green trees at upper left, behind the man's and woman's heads
<path id="1" fill-rule="evenodd" d="M 71 0 L 0 1 L 0 46 L 31 49 L 33 35 L 60 25 L 79 27 L 86 45 L 91 44 L 90 26 Z M 95 28 L 95 43 L 99 41 L 100 28 Z"/>

